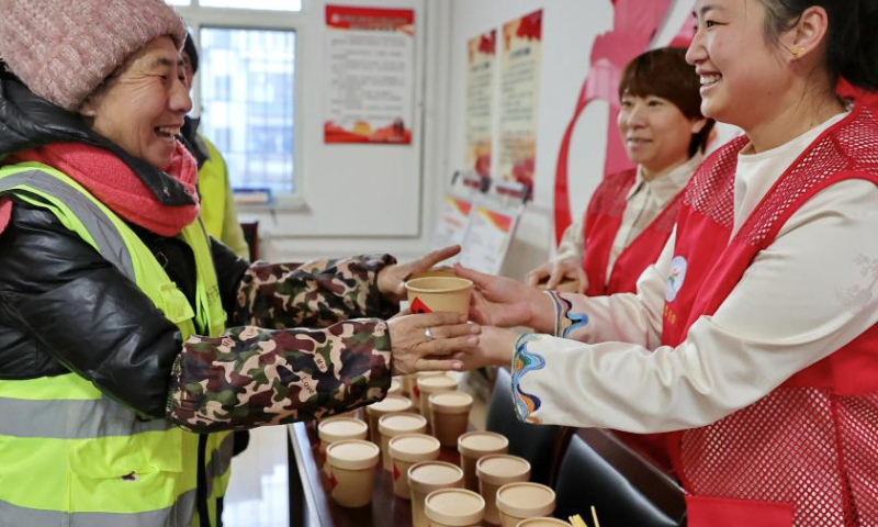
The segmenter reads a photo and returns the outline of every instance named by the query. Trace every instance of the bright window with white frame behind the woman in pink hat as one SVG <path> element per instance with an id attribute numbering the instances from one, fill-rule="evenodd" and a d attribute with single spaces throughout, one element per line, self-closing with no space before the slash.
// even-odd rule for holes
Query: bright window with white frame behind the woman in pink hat
<path id="1" fill-rule="evenodd" d="M 201 133 L 234 189 L 296 192 L 295 59 L 302 0 L 169 0 L 199 47 Z"/>

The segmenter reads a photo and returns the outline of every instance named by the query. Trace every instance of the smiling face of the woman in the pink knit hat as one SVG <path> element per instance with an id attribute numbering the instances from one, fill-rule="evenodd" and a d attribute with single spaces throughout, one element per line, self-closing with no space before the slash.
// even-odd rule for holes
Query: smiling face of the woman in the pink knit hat
<path id="1" fill-rule="evenodd" d="M 113 75 L 110 87 L 83 103 L 95 132 L 132 156 L 166 169 L 183 116 L 192 110 L 180 54 L 169 36 L 144 46 Z"/>

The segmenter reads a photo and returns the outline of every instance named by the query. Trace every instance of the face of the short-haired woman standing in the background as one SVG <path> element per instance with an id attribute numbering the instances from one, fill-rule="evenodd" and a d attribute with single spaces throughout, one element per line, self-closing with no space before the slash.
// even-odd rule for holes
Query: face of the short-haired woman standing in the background
<path id="1" fill-rule="evenodd" d="M 693 134 L 705 125 L 705 120 L 689 120 L 667 99 L 629 93 L 622 96 L 617 122 L 628 157 L 645 177 L 686 162 Z"/>

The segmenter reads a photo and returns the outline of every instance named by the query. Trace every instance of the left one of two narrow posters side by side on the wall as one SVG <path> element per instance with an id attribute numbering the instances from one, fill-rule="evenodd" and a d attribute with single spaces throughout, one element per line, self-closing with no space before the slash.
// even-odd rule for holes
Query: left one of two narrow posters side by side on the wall
<path id="1" fill-rule="evenodd" d="M 466 170 L 491 178 L 497 30 L 466 43 Z"/>

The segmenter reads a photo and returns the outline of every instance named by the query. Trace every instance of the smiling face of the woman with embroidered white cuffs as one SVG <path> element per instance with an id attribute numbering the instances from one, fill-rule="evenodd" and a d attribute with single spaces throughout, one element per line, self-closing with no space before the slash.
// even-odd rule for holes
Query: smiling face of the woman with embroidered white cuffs
<path id="1" fill-rule="evenodd" d="M 701 80 L 701 113 L 747 130 L 773 114 L 789 86 L 787 65 L 765 32 L 761 0 L 697 0 L 686 54 Z"/>

